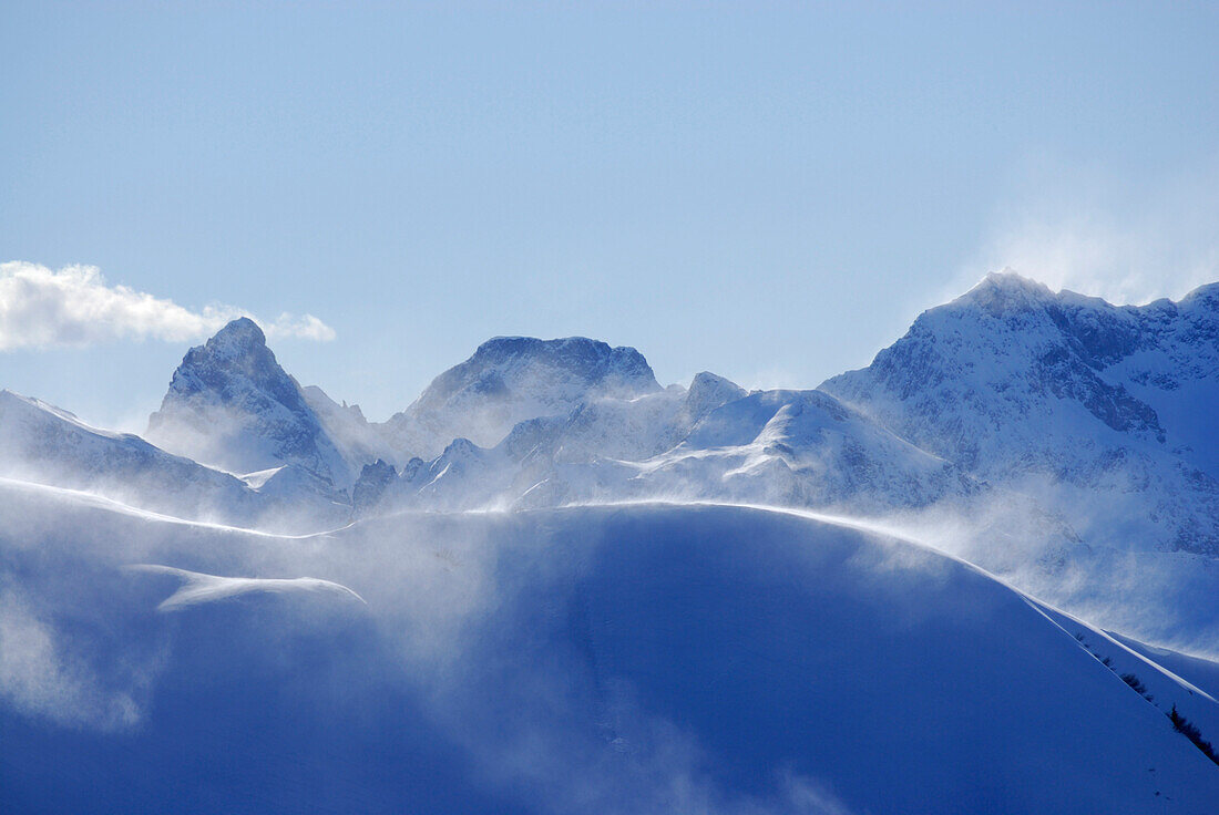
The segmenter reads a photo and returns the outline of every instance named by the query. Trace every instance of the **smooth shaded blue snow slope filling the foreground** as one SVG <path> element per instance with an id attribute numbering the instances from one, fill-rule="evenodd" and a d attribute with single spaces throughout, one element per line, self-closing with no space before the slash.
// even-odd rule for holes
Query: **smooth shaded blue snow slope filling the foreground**
<path id="1" fill-rule="evenodd" d="M 638 504 L 291 540 L 63 517 L 24 524 L 37 541 L 0 531 L 0 587 L 21 586 L 46 653 L 134 714 L 62 724 L 23 699 L 30 660 L 0 642 L 4 811 L 1201 815 L 1219 800 L 1219 767 L 1164 714 L 1214 739 L 1204 694 L 1123 652 L 1154 674 L 1148 702 L 1076 640 L 1119 651 L 1092 629 L 842 524 Z M 147 560 L 316 575 L 367 609 L 157 614 L 163 593 L 113 568 Z"/>

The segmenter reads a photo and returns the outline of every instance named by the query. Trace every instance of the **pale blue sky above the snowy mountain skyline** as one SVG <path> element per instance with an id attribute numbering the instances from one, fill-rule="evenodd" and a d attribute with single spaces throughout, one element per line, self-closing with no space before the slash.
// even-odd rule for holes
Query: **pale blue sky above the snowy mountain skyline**
<path id="1" fill-rule="evenodd" d="M 501 334 L 814 386 L 1219 279 L 1219 6 L 983 6 L 9 0 L 0 387 L 143 429 L 239 311 L 374 419 Z"/>

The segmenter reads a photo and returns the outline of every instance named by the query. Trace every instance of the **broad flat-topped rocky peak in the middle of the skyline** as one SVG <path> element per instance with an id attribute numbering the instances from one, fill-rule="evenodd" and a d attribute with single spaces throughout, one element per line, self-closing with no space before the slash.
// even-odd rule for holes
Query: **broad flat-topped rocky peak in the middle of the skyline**
<path id="1" fill-rule="evenodd" d="M 585 337 L 496 337 L 432 381 L 386 431 L 407 453 L 433 458 L 453 440 L 490 447 L 527 419 L 566 415 L 608 396 L 659 391 L 647 361 L 634 348 Z"/>

